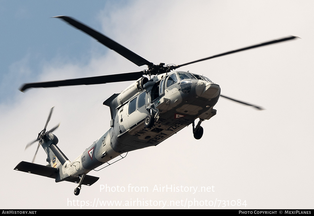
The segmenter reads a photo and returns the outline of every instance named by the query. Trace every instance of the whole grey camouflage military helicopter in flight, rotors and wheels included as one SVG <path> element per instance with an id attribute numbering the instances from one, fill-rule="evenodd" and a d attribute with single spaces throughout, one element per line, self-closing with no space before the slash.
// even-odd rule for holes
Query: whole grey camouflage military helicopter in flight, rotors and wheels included
<path id="1" fill-rule="evenodd" d="M 121 93 L 113 94 L 103 102 L 103 105 L 110 108 L 110 128 L 73 162 L 59 149 L 57 146 L 58 138 L 52 133 L 59 125 L 46 130 L 52 115 L 52 107 L 44 129 L 38 133 L 38 137 L 34 141 L 28 143 L 25 147 L 27 149 L 38 142 L 32 162 L 21 161 L 14 168 L 14 170 L 53 178 L 56 182 L 69 181 L 77 183 L 74 189 L 75 195 L 79 195 L 82 185 L 91 186 L 98 181 L 99 177 L 87 175 L 89 171 L 106 163 L 111 165 L 112 159 L 118 156 L 123 159 L 122 154 L 156 146 L 191 124 L 194 138 L 201 139 L 204 132 L 201 123 L 216 115 L 214 105 L 220 97 L 251 106 L 257 110 L 263 110 L 260 106 L 221 95 L 219 85 L 203 75 L 176 69 L 192 63 L 297 38 L 296 36 L 288 36 L 181 65 L 165 65 L 165 63 L 154 64 L 149 62 L 106 35 L 72 17 L 57 16 L 54 18 L 62 19 L 78 30 L 83 31 L 137 66 L 148 66 L 148 69 L 139 72 L 26 83 L 21 86 L 20 91 L 25 92 L 30 88 L 133 81 Z M 198 120 L 197 124 L 195 124 L 196 120 Z M 40 146 L 47 154 L 46 162 L 48 165 L 46 166 L 34 163 Z"/>

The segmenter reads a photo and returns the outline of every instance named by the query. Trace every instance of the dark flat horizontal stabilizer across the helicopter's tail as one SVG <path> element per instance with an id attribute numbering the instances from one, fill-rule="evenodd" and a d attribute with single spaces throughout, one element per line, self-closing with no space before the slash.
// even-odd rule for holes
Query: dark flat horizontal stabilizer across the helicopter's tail
<path id="1" fill-rule="evenodd" d="M 39 176 L 46 176 L 46 177 L 53 178 L 53 179 L 56 179 L 58 176 L 58 169 L 57 168 L 53 168 L 50 166 L 44 166 L 44 165 L 40 165 L 40 164 L 34 164 L 34 163 L 30 163 L 30 162 L 25 162 L 25 161 L 19 162 L 19 164 L 14 168 L 14 170 L 18 170 L 18 171 L 22 171 L 22 172 L 28 172 L 28 173 L 32 173 L 32 174 L 39 175 Z M 99 177 L 86 175 L 84 177 L 82 185 L 91 186 L 98 179 L 99 179 Z M 73 182 L 73 183 L 78 183 L 79 180 L 80 179 L 78 177 L 71 177 L 70 176 L 70 177 L 67 177 L 65 179 L 62 179 L 61 181 L 69 181 L 69 182 Z"/>

